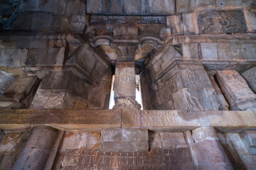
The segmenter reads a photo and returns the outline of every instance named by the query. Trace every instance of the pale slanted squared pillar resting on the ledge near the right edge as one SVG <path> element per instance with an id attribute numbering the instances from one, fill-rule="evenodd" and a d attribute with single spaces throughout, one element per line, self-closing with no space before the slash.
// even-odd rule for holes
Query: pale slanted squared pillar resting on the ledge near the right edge
<path id="1" fill-rule="evenodd" d="M 231 110 L 255 110 L 256 94 L 247 85 L 245 79 L 235 70 L 218 71 L 216 79 Z"/>

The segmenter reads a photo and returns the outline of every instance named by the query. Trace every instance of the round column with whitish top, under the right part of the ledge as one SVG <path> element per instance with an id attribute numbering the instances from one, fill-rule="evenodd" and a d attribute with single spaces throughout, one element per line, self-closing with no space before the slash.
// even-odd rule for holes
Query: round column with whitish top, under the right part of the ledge
<path id="1" fill-rule="evenodd" d="M 197 149 L 195 163 L 199 163 L 199 169 L 233 169 L 214 128 L 196 128 L 192 131 L 192 137 L 195 141 L 192 145 L 196 145 Z M 199 162 L 198 157 L 200 157 Z"/>

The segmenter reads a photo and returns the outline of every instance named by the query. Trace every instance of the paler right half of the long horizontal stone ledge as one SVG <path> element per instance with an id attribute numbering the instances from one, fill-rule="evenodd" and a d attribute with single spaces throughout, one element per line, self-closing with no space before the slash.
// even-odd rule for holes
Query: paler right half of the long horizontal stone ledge
<path id="1" fill-rule="evenodd" d="M 223 132 L 256 128 L 252 111 L 122 111 L 122 127 L 161 131 L 184 131 L 212 126 Z"/>

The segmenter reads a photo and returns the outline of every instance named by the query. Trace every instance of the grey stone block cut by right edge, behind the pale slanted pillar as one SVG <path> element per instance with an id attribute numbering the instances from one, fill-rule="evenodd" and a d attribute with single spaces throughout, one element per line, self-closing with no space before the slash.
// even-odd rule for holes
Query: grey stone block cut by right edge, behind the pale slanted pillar
<path id="1" fill-rule="evenodd" d="M 250 89 L 256 94 L 256 67 L 243 72 L 242 77 L 247 81 Z"/>

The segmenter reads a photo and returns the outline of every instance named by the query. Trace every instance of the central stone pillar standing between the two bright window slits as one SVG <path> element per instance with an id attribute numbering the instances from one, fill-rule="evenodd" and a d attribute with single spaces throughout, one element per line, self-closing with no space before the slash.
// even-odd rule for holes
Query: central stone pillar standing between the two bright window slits
<path id="1" fill-rule="evenodd" d="M 114 77 L 114 109 L 140 109 L 136 98 L 136 79 L 133 50 L 129 47 L 119 47 Z M 132 62 L 129 62 L 131 61 Z"/>

